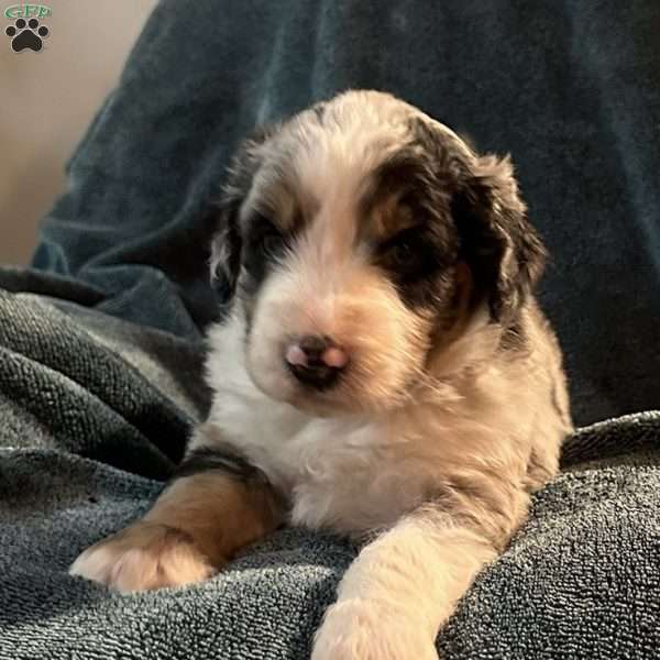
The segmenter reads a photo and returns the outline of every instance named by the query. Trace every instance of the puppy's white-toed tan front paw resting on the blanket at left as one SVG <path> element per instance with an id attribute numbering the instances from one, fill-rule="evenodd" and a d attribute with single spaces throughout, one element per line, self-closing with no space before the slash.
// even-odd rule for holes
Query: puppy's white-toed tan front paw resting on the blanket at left
<path id="1" fill-rule="evenodd" d="M 69 569 L 119 592 L 179 586 L 206 580 L 213 566 L 185 532 L 135 522 L 82 552 Z"/>

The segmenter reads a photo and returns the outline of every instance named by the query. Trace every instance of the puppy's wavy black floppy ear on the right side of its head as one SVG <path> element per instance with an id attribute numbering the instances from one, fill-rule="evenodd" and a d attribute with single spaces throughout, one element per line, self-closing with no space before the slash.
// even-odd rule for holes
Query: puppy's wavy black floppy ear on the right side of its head
<path id="1" fill-rule="evenodd" d="M 476 157 L 452 198 L 461 258 L 477 300 L 507 323 L 539 279 L 546 250 L 527 218 L 508 156 Z"/>

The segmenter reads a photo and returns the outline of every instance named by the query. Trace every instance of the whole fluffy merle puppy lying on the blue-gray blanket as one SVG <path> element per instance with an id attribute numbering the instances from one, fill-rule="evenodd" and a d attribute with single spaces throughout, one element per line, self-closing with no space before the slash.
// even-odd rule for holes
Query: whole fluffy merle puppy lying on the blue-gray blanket
<path id="1" fill-rule="evenodd" d="M 234 160 L 212 245 L 208 420 L 146 516 L 72 573 L 122 592 L 212 575 L 283 522 L 362 542 L 312 658 L 433 659 L 571 430 L 508 158 L 350 91 Z"/>

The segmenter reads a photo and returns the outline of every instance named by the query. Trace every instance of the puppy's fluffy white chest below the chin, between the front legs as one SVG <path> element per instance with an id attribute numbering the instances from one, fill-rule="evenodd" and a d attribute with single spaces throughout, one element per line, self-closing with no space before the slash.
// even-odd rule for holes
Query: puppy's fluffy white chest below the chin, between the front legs
<path id="1" fill-rule="evenodd" d="M 238 402 L 228 416 L 217 409 L 213 422 L 289 497 L 294 525 L 361 534 L 431 496 L 425 458 L 374 422 Z"/>

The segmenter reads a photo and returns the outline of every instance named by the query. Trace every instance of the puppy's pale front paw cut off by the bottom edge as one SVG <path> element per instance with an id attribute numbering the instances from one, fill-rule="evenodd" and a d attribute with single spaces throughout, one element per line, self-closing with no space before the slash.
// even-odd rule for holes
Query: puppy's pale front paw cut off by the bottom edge
<path id="1" fill-rule="evenodd" d="M 439 660 L 435 640 L 410 616 L 371 601 L 337 603 L 315 636 L 311 660 Z"/>

